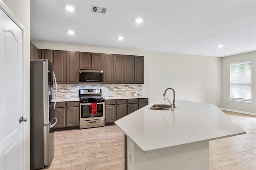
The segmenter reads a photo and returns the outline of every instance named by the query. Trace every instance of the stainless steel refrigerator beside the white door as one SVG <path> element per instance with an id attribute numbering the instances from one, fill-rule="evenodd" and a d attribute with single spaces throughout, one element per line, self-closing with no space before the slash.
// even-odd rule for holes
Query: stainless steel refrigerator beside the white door
<path id="1" fill-rule="evenodd" d="M 30 169 L 44 168 L 54 155 L 56 78 L 48 60 L 30 61 Z"/>

